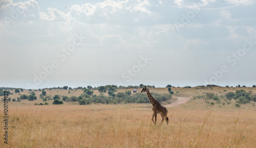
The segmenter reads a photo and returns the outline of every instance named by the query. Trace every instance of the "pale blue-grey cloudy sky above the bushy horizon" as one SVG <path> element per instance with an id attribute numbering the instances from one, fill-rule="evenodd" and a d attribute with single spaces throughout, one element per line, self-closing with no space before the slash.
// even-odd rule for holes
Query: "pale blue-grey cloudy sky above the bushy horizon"
<path id="1" fill-rule="evenodd" d="M 256 84 L 252 0 L 0 0 L 0 87 Z"/>

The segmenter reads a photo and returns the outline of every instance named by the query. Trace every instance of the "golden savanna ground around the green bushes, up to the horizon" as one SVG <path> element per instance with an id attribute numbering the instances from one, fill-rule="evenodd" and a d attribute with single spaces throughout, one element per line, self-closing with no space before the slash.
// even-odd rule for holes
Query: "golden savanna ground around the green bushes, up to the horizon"
<path id="1" fill-rule="evenodd" d="M 228 99 L 225 95 L 238 90 L 251 96 L 256 94 L 256 88 L 252 87 L 172 88 L 172 99 L 161 104 L 173 103 L 179 96 L 191 99 L 167 108 L 168 125 L 165 121 L 160 125 L 158 114 L 156 126 L 151 121 L 150 103 L 79 105 L 63 101 L 61 105 L 53 105 L 53 100 L 47 100 L 49 105 L 34 105 L 44 103 L 39 98 L 41 92 L 37 91 L 37 100 L 8 102 L 8 144 L 1 138 L 0 147 L 256 147 L 256 102 L 238 103 L 239 99 Z M 83 93 L 82 90 L 46 92 L 68 97 Z M 150 88 L 150 92 L 168 94 L 167 88 Z M 11 93 L 11 98 L 29 95 L 28 90 Z M 100 93 L 94 91 L 94 94 Z M 209 94 L 218 99 L 207 98 Z M 0 133 L 4 137 L 3 101 L 0 106 Z"/>

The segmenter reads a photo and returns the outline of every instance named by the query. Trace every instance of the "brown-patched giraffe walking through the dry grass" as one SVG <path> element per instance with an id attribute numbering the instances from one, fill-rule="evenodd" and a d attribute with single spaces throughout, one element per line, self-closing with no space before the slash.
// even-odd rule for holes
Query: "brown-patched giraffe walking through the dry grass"
<path id="1" fill-rule="evenodd" d="M 169 123 L 169 119 L 168 119 L 168 117 L 167 117 L 167 112 L 168 112 L 168 110 L 167 110 L 164 106 L 162 106 L 156 99 L 154 99 L 154 98 L 152 97 L 152 95 L 150 94 L 150 91 L 148 91 L 148 89 L 146 88 L 146 86 L 145 86 L 145 88 L 142 89 L 141 93 L 143 93 L 143 92 L 146 92 L 148 99 L 150 99 L 150 102 L 151 102 L 152 105 L 153 105 L 153 108 L 152 108 L 152 110 L 153 110 L 153 116 L 152 116 L 152 121 L 153 121 L 153 123 L 154 123 L 155 125 L 157 124 L 157 113 L 159 113 L 159 114 L 161 114 L 161 116 L 162 116 L 162 122 L 161 122 L 161 124 L 163 123 L 163 121 L 164 121 L 164 119 L 165 119 L 165 120 L 166 120 L 166 123 L 167 123 L 167 125 L 168 125 L 168 123 Z M 154 119 L 154 116 L 155 116 L 155 121 L 153 120 L 153 119 Z M 160 124 L 160 125 L 161 125 L 161 124 Z"/>

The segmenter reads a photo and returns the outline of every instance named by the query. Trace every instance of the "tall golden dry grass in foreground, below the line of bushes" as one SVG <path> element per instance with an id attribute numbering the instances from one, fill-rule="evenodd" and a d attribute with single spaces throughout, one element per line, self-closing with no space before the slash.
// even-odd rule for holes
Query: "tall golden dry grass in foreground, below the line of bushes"
<path id="1" fill-rule="evenodd" d="M 12 106 L 9 144 L 0 147 L 256 147 L 255 111 L 168 108 L 169 125 L 158 115 L 155 126 L 140 106 Z"/>

